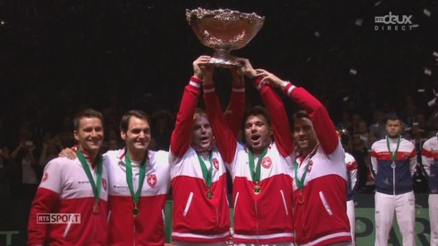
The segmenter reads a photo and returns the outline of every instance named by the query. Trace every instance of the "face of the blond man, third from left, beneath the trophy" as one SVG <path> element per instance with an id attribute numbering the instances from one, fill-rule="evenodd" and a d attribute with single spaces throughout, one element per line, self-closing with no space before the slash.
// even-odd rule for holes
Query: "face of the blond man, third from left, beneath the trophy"
<path id="1" fill-rule="evenodd" d="M 209 150 L 211 141 L 213 141 L 213 131 L 211 130 L 210 122 L 204 114 L 195 115 L 190 141 L 191 146 L 200 151 Z"/>

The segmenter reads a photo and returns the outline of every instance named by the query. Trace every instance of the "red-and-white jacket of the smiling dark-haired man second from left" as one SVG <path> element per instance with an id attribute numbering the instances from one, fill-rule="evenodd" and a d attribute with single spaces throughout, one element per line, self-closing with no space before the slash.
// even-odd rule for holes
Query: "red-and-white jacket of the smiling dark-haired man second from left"
<path id="1" fill-rule="evenodd" d="M 164 245 L 164 206 L 170 188 L 168 152 L 148 151 L 146 174 L 137 207 L 140 214 L 133 217 L 133 198 L 126 178 L 125 148 L 106 152 L 103 164 L 110 183 L 108 217 L 109 245 Z M 140 163 L 131 162 L 133 189 L 138 189 Z"/>

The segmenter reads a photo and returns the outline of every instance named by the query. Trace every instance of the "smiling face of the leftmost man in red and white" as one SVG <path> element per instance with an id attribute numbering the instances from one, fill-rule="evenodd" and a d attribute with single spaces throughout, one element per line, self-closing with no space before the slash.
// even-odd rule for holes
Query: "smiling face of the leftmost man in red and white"
<path id="1" fill-rule="evenodd" d="M 98 152 L 103 141 L 102 122 L 99 118 L 83 117 L 79 120 L 79 126 L 73 135 L 83 150 Z"/>

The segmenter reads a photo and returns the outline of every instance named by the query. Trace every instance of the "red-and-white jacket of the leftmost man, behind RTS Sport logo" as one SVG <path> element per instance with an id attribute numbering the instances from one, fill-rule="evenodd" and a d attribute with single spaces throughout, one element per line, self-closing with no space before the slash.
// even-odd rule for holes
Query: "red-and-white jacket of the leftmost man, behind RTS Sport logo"
<path id="1" fill-rule="evenodd" d="M 90 171 L 96 181 L 96 169 Z M 44 168 L 40 187 L 32 203 L 28 245 L 107 245 L 107 170 L 102 167 L 99 214 L 92 213 L 94 195 L 86 172 L 78 159 L 58 157 Z M 79 213 L 80 223 L 39 223 L 41 213 Z"/>

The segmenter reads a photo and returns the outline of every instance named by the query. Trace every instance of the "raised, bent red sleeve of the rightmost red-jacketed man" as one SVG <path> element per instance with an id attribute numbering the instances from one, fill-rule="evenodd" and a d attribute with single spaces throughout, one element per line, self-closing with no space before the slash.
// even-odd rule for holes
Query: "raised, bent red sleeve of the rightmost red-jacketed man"
<path id="1" fill-rule="evenodd" d="M 304 88 L 289 84 L 285 87 L 285 93 L 307 111 L 322 149 L 326 154 L 332 154 L 339 144 L 339 139 L 326 108 Z"/>

